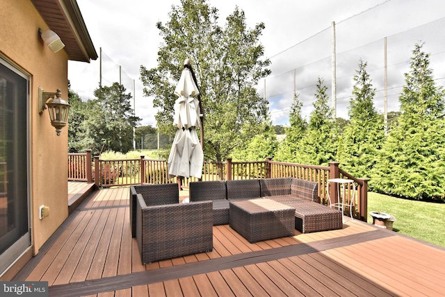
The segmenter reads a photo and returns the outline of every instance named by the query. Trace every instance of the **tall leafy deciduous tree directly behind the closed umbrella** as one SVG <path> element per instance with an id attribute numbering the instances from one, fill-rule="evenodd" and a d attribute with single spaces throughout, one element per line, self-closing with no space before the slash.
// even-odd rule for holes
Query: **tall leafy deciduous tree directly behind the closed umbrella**
<path id="1" fill-rule="evenodd" d="M 264 24 L 248 29 L 243 10 L 236 7 L 220 27 L 218 10 L 205 0 L 181 0 L 169 17 L 166 24 L 156 24 L 163 37 L 158 67 L 140 67 L 144 94 L 154 97 L 154 107 L 160 108 L 156 121 L 161 133 L 174 134 L 173 90 L 182 62 L 191 58 L 204 114 L 204 155 L 223 160 L 268 126 L 268 102 L 255 89 L 270 73 L 270 61 L 261 60 L 264 48 L 259 44 Z"/>

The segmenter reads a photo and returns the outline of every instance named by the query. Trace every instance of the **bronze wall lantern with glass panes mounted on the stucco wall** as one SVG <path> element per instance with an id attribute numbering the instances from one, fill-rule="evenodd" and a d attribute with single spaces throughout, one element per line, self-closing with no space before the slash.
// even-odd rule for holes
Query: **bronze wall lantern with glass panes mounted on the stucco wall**
<path id="1" fill-rule="evenodd" d="M 62 128 L 67 126 L 68 110 L 70 110 L 71 105 L 62 99 L 62 92 L 59 89 L 57 89 L 56 93 L 49 93 L 43 92 L 39 88 L 39 114 L 42 114 L 43 110 L 47 109 L 45 104 L 48 107 L 51 125 L 56 128 L 57 136 L 59 136 Z"/>

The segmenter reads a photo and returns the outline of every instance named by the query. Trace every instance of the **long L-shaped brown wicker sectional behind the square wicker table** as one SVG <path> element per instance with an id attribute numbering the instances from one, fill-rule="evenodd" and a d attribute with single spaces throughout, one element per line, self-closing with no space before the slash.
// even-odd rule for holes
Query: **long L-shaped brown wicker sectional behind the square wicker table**
<path id="1" fill-rule="evenodd" d="M 214 224 L 229 223 L 230 201 L 269 198 L 296 209 L 295 228 L 302 233 L 343 228 L 341 211 L 320 204 L 318 183 L 308 180 L 264 178 L 195 182 L 189 185 L 190 201 L 213 202 Z"/>

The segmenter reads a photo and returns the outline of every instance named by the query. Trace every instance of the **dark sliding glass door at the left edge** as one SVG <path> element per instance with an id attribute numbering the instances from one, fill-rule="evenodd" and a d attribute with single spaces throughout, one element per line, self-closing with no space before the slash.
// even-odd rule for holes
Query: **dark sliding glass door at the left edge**
<path id="1" fill-rule="evenodd" d="M 0 275 L 26 248 L 29 76 L 0 57 Z"/>

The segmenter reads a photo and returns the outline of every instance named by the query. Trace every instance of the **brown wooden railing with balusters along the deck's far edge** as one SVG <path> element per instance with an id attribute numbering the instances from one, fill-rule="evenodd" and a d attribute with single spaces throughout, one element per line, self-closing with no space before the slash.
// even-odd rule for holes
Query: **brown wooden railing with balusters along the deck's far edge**
<path id="1" fill-rule="evenodd" d="M 145 183 L 178 183 L 179 187 L 187 188 L 188 184 L 197 181 L 197 178 L 170 178 L 168 176 L 168 165 L 165 160 L 150 160 L 141 156 L 134 160 L 100 160 L 96 156 L 94 162 L 94 180 L 97 187 L 114 187 L 124 185 L 140 185 Z M 70 168 L 81 176 L 81 172 L 88 171 L 83 165 L 72 164 L 76 161 L 86 162 L 76 154 L 70 154 L 68 159 Z M 88 157 L 86 157 L 86 160 Z M 70 173 L 70 178 L 73 178 Z M 201 180 L 243 180 L 257 178 L 301 178 L 318 183 L 318 196 L 320 203 L 329 204 L 330 193 L 332 203 L 337 203 L 337 187 L 334 183 L 327 188 L 327 180 L 330 178 L 348 178 L 354 180 L 354 186 L 346 187 L 345 201 L 348 203 L 353 197 L 355 190 L 355 199 L 353 201 L 353 217 L 366 221 L 368 205 L 368 179 L 355 178 L 346 171 L 339 168 L 339 162 L 330 162 L 329 166 L 314 166 L 306 164 L 294 164 L 286 162 L 276 162 L 271 158 L 264 161 L 254 162 L 233 162 L 227 159 L 225 162 L 204 162 Z M 350 209 L 346 207 L 345 214 L 349 214 Z"/>

